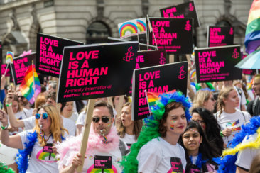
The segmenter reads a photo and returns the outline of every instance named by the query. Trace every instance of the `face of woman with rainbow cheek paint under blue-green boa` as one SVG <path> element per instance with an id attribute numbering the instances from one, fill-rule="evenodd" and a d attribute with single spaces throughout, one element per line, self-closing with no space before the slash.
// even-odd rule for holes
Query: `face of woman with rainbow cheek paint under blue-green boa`
<path id="1" fill-rule="evenodd" d="M 169 111 L 164 126 L 166 127 L 166 135 L 181 135 L 187 126 L 187 120 L 183 108 L 178 107 Z"/>

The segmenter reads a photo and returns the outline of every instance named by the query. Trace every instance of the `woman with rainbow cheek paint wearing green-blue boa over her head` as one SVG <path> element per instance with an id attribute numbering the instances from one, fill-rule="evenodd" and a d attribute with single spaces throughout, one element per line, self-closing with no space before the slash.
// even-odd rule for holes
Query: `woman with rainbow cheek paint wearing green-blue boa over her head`
<path id="1" fill-rule="evenodd" d="M 180 92 L 161 94 L 146 119 L 130 154 L 121 162 L 124 172 L 185 172 L 183 147 L 177 142 L 190 120 L 190 102 Z"/>

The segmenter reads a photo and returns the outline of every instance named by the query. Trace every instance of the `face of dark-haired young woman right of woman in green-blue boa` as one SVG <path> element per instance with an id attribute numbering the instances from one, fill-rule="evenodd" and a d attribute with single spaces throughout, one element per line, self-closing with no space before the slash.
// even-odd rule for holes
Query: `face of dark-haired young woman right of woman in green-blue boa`
<path id="1" fill-rule="evenodd" d="M 197 128 L 190 128 L 183 133 L 183 145 L 188 152 L 198 153 L 200 143 L 202 143 L 202 136 L 198 132 Z"/>

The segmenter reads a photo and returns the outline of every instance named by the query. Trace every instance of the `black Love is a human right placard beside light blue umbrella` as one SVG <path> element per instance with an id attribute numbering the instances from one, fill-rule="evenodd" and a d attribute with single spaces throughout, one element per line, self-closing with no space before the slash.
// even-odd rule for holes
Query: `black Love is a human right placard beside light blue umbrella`
<path id="1" fill-rule="evenodd" d="M 240 45 L 195 50 L 197 83 L 242 79 Z"/>

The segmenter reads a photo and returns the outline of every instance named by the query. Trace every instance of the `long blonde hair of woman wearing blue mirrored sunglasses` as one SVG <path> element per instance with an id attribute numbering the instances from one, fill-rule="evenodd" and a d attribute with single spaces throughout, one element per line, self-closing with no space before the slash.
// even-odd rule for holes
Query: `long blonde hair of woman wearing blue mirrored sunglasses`
<path id="1" fill-rule="evenodd" d="M 50 133 L 53 135 L 53 141 L 55 142 L 62 142 L 62 137 L 65 135 L 65 131 L 68 133 L 67 129 L 63 128 L 63 123 L 61 122 L 60 115 L 58 114 L 57 108 L 51 104 L 44 104 L 42 106 L 38 107 L 38 111 L 40 111 L 40 108 L 43 108 L 44 111 L 48 113 L 48 116 L 50 116 L 51 124 L 50 124 Z M 33 130 L 36 130 L 37 136 L 38 136 L 38 142 L 40 143 L 40 146 L 45 146 L 47 141 L 42 138 L 40 138 L 40 125 L 38 124 L 38 120 L 36 119 L 36 126 L 33 128 Z"/>

